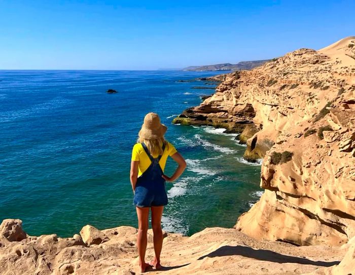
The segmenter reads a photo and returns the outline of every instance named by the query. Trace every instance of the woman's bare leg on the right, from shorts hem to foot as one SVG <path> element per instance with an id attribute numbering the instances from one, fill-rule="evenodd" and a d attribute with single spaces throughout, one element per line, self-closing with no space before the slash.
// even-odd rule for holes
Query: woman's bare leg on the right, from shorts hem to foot
<path id="1" fill-rule="evenodd" d="M 152 228 L 155 258 L 150 262 L 156 269 L 161 269 L 160 253 L 163 247 L 163 232 L 161 230 L 161 216 L 163 215 L 164 206 L 152 206 Z"/>

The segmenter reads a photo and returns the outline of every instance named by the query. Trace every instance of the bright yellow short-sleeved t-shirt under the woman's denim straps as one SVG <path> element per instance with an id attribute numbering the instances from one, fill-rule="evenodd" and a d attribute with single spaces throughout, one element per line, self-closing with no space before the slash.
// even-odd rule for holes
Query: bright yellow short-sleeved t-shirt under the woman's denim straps
<path id="1" fill-rule="evenodd" d="M 176 153 L 175 147 L 170 143 L 167 142 L 165 145 L 164 153 L 163 156 L 161 156 L 161 159 L 159 161 L 159 165 L 161 167 L 161 170 L 164 172 L 166 160 L 168 159 L 168 156 L 172 156 Z M 153 158 L 158 158 L 158 155 L 152 155 Z M 138 176 L 144 173 L 148 169 L 148 167 L 151 165 L 151 160 L 149 159 L 146 151 L 144 150 L 143 146 L 140 143 L 136 143 L 133 146 L 132 150 L 132 161 L 139 161 L 138 164 Z"/>

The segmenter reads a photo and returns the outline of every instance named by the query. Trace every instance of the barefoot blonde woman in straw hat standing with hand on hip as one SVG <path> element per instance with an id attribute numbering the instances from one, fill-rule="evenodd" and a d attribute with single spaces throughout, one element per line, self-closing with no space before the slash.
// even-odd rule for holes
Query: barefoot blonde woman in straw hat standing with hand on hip
<path id="1" fill-rule="evenodd" d="M 144 118 L 138 136 L 138 143 L 133 146 L 130 180 L 134 193 L 133 204 L 138 217 L 137 247 L 140 271 L 145 272 L 149 266 L 161 269 L 160 253 L 163 246 L 161 216 L 168 198 L 165 181 L 172 182 L 184 172 L 186 162 L 174 146 L 164 139 L 166 126 L 160 123 L 155 113 L 148 113 Z M 171 177 L 164 175 L 166 160 L 170 156 L 177 164 Z M 149 209 L 152 211 L 152 228 L 154 242 L 154 260 L 145 262 L 147 249 L 147 230 Z"/>

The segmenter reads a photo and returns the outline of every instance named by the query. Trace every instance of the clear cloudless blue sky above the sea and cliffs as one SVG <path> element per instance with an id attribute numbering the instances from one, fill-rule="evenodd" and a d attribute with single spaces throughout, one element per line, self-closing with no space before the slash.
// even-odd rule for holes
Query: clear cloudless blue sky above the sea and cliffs
<path id="1" fill-rule="evenodd" d="M 0 0 L 0 69 L 154 70 L 355 35 L 355 1 Z"/>

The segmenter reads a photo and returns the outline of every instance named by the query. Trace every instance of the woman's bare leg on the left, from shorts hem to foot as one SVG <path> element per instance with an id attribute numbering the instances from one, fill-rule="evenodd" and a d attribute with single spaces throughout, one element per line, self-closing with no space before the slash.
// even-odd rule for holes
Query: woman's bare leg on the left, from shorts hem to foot
<path id="1" fill-rule="evenodd" d="M 138 217 L 137 248 L 139 255 L 140 272 L 145 272 L 149 264 L 146 263 L 147 231 L 149 207 L 135 207 Z"/>

